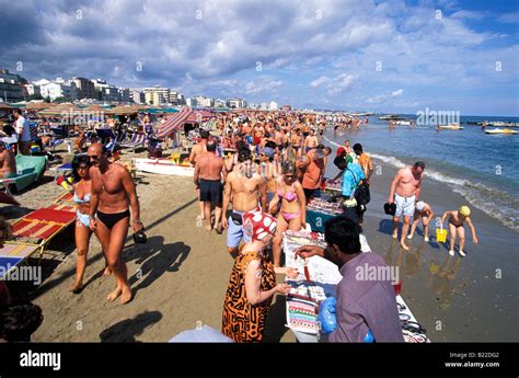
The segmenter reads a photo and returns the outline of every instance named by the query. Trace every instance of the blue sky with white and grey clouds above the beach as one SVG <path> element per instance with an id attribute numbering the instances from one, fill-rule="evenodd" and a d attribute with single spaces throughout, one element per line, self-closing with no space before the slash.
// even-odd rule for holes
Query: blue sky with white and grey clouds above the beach
<path id="1" fill-rule="evenodd" d="M 0 0 L 0 68 L 297 108 L 519 116 L 518 4 Z"/>

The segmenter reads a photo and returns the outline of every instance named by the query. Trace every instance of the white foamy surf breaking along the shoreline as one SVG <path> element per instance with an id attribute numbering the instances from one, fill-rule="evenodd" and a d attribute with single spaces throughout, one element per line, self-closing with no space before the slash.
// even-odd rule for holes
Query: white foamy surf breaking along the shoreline
<path id="1" fill-rule="evenodd" d="M 336 147 L 342 145 L 325 139 Z M 370 152 L 369 156 L 389 165 L 401 169 L 407 164 L 395 157 L 388 157 L 380 153 Z M 435 181 L 449 184 L 453 192 L 460 194 L 470 204 L 486 213 L 491 217 L 499 220 L 506 227 L 519 232 L 519 199 L 510 196 L 503 190 L 489 187 L 480 182 L 473 183 L 470 180 L 452 177 L 443 172 L 427 168 L 426 176 Z"/>

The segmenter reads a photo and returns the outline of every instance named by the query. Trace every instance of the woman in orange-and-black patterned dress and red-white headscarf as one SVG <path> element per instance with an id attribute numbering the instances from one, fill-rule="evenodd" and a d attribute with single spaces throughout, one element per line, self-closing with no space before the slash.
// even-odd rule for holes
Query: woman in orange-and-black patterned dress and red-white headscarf
<path id="1" fill-rule="evenodd" d="M 290 285 L 277 284 L 276 273 L 296 278 L 291 267 L 274 267 L 266 247 L 276 233 L 276 219 L 254 211 L 243 216 L 243 230 L 250 242 L 242 245 L 234 261 L 223 302 L 222 333 L 238 343 L 261 342 L 270 301 L 276 293 L 287 294 Z"/>

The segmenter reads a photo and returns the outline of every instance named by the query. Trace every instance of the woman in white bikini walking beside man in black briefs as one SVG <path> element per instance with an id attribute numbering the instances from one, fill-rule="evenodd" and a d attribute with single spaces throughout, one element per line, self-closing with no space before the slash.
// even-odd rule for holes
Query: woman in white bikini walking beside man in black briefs
<path id="1" fill-rule="evenodd" d="M 90 195 L 92 184 L 89 175 L 90 161 L 85 156 L 76 157 L 72 161 L 73 201 L 77 204 L 76 211 L 76 248 L 78 260 L 76 261 L 76 282 L 70 291 L 79 294 L 83 289 L 83 275 L 86 268 L 86 253 L 89 252 L 90 237 Z"/>

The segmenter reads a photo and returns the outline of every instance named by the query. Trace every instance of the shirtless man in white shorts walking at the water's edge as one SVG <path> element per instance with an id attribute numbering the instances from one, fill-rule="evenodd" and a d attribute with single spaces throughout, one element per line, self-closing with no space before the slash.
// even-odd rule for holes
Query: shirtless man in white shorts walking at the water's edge
<path id="1" fill-rule="evenodd" d="M 393 239 L 399 236 L 400 218 L 404 216 L 404 225 L 402 227 L 402 236 L 400 238 L 400 245 L 408 251 L 405 245 L 405 237 L 410 231 L 411 217 L 415 213 L 415 204 L 418 201 L 422 181 L 422 174 L 425 170 L 425 163 L 417 161 L 413 167 L 402 168 L 396 172 L 393 183 L 391 184 L 390 195 L 388 197 L 389 204 L 396 204 L 396 213 L 393 217 Z"/>

